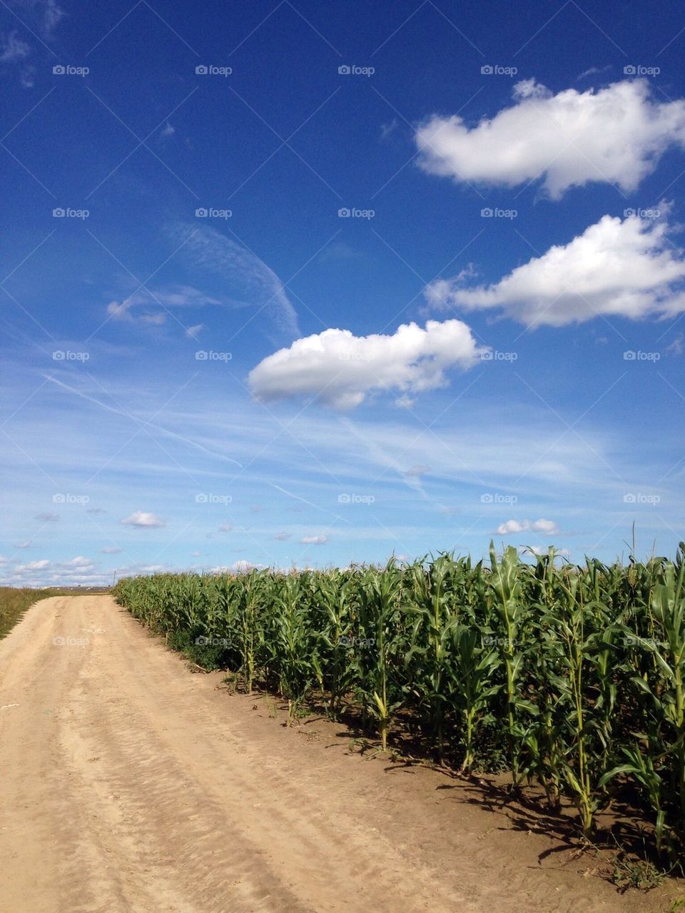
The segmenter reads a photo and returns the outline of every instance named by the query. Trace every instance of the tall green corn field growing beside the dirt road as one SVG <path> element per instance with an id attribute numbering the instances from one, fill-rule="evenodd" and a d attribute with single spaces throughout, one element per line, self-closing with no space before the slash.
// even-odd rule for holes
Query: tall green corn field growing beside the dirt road
<path id="1" fill-rule="evenodd" d="M 489 565 L 441 554 L 383 568 L 120 581 L 119 603 L 205 667 L 410 732 L 464 774 L 511 771 L 591 835 L 618 793 L 660 857 L 685 856 L 685 543 L 675 561 Z"/>

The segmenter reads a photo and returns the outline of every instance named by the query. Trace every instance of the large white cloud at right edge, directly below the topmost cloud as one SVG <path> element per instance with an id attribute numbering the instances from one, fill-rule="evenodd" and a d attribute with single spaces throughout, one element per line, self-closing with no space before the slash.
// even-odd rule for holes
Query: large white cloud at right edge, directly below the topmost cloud
<path id="1" fill-rule="evenodd" d="M 668 208 L 660 206 L 664 214 Z M 685 257 L 668 230 L 666 219 L 604 215 L 499 282 L 467 288 L 459 278 L 438 279 L 425 289 L 426 299 L 434 307 L 501 308 L 532 326 L 673 315 L 685 310 Z"/>

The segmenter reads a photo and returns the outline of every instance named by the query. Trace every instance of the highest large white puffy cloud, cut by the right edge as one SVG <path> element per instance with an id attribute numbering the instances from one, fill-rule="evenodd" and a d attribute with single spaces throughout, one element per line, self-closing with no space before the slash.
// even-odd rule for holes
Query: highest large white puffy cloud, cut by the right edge
<path id="1" fill-rule="evenodd" d="M 420 166 L 458 182 L 513 187 L 543 178 L 553 199 L 591 181 L 631 191 L 663 152 L 685 143 L 685 106 L 652 98 L 646 79 L 557 95 L 525 79 L 492 119 L 470 128 L 456 115 L 435 115 L 415 139 Z"/>

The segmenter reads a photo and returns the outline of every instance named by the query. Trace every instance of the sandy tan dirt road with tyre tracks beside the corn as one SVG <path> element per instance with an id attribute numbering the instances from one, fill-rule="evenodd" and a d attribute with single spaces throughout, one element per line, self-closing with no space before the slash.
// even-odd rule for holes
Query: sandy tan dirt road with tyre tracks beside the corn
<path id="1" fill-rule="evenodd" d="M 109 596 L 29 609 L 0 642 L 3 913 L 666 909 L 468 784 L 220 681 Z"/>

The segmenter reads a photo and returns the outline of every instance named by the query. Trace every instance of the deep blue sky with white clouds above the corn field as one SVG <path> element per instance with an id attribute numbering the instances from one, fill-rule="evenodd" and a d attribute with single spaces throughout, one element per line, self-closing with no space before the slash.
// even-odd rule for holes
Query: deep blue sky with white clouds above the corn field
<path id="1" fill-rule="evenodd" d="M 684 46 L 676 3 L 7 0 L 3 581 L 673 554 Z"/>

